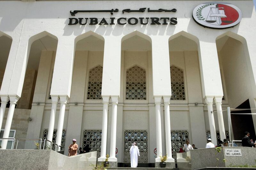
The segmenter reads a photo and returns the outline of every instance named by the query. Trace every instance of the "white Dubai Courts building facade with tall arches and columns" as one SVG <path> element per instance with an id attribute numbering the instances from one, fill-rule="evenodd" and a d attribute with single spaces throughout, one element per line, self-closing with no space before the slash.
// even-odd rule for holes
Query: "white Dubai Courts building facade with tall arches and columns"
<path id="1" fill-rule="evenodd" d="M 65 154 L 75 138 L 122 163 L 134 141 L 139 163 L 155 163 L 174 162 L 186 139 L 228 138 L 222 109 L 256 108 L 256 13 L 252 0 L 225 2 L 242 12 L 227 29 L 193 20 L 207 1 L 0 1 L 3 137 L 46 138 Z"/>

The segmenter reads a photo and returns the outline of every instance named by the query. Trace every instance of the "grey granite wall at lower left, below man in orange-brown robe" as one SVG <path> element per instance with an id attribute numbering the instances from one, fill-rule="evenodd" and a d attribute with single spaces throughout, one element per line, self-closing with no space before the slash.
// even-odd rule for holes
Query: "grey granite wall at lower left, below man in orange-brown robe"
<path id="1" fill-rule="evenodd" d="M 0 155 L 0 169 L 92 169 L 97 152 L 67 157 L 52 150 L 3 149 Z"/>

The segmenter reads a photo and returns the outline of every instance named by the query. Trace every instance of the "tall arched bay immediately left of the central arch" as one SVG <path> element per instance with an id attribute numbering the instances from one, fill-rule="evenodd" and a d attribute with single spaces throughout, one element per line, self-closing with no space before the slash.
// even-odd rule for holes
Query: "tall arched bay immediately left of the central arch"
<path id="1" fill-rule="evenodd" d="M 103 54 L 104 38 L 99 34 L 90 31 L 76 37 L 67 140 L 76 138 L 82 150 L 97 151 L 97 159 L 101 151 Z"/>

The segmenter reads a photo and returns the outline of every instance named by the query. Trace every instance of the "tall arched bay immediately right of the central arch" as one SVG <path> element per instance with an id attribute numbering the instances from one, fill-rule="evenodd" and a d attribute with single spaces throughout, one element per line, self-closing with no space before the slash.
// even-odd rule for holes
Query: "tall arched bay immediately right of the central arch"
<path id="1" fill-rule="evenodd" d="M 184 31 L 169 39 L 173 152 L 179 152 L 187 139 L 191 145 L 205 147 L 209 123 L 203 107 L 198 42 L 197 37 Z"/>

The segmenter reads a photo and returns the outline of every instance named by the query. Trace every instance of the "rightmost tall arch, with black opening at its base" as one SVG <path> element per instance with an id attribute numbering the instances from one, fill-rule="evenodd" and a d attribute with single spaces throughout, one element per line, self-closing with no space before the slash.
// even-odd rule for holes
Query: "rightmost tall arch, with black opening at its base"
<path id="1" fill-rule="evenodd" d="M 231 108 L 255 108 L 255 80 L 244 37 L 227 32 L 216 39 L 220 70 L 223 74 L 226 100 Z M 251 110 L 239 113 L 251 113 Z M 255 138 L 254 115 L 231 115 L 235 140 L 241 140 L 245 131 Z"/>

